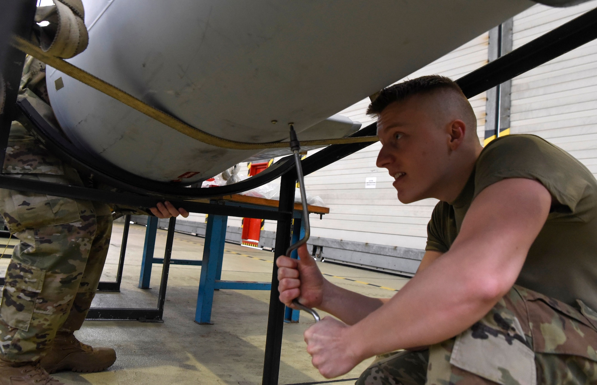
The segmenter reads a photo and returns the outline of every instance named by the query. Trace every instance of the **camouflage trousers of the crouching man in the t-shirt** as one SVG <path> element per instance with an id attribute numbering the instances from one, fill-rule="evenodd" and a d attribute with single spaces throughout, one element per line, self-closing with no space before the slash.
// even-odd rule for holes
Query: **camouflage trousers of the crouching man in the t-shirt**
<path id="1" fill-rule="evenodd" d="M 378 357 L 356 385 L 597 383 L 597 313 L 514 286 L 457 337 Z"/>

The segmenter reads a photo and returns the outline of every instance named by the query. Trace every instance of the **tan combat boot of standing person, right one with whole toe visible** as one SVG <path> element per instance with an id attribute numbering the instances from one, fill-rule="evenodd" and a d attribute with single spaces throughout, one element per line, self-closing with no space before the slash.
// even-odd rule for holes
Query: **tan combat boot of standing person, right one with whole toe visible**
<path id="1" fill-rule="evenodd" d="M 91 347 L 79 342 L 74 334 L 57 333 L 54 345 L 42 358 L 41 367 L 49 373 L 62 370 L 100 372 L 112 366 L 116 352 L 109 347 Z"/>

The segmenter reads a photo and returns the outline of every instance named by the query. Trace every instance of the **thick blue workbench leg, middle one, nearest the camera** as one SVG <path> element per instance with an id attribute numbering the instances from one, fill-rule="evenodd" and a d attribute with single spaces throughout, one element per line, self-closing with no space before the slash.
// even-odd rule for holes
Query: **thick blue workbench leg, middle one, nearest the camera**
<path id="1" fill-rule="evenodd" d="M 227 222 L 227 216 L 210 214 L 207 217 L 201 278 L 199 278 L 199 293 L 197 295 L 197 308 L 195 309 L 195 322 L 198 324 L 211 324 L 214 283 L 216 282 L 219 259 L 224 254 Z"/>

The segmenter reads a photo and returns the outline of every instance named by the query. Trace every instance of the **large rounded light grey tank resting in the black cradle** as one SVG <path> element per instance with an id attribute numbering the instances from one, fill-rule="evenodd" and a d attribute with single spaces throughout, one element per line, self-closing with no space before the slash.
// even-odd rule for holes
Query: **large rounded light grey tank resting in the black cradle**
<path id="1" fill-rule="evenodd" d="M 83 2 L 89 46 L 70 63 L 191 126 L 243 142 L 287 139 L 288 122 L 299 139 L 317 123 L 309 138 L 350 133 L 350 120 L 343 131 L 341 119 L 325 119 L 533 5 Z M 263 152 L 203 144 L 55 69 L 47 75 L 52 107 L 70 140 L 136 175 L 199 181 Z"/>

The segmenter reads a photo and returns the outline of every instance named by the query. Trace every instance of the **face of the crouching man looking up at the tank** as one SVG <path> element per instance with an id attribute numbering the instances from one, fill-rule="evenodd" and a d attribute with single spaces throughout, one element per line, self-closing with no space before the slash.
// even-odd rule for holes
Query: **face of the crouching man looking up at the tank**
<path id="1" fill-rule="evenodd" d="M 377 167 L 394 178 L 402 203 L 435 196 L 448 170 L 450 135 L 433 116 L 428 97 L 414 95 L 388 105 L 377 121 Z"/>

